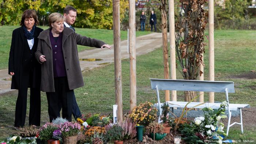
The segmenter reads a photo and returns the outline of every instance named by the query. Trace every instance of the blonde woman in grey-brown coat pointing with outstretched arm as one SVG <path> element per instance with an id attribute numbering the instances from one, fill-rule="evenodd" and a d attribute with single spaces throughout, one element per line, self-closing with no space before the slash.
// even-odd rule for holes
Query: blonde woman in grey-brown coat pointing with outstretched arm
<path id="1" fill-rule="evenodd" d="M 35 58 L 41 63 L 41 91 L 46 92 L 50 122 L 59 117 L 72 120 L 74 89 L 83 87 L 77 45 L 96 48 L 111 46 L 103 41 L 84 37 L 64 27 L 65 17 L 54 12 L 49 15 L 50 28 L 38 36 Z"/>

